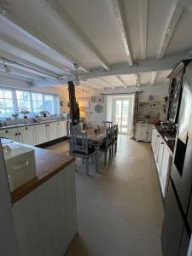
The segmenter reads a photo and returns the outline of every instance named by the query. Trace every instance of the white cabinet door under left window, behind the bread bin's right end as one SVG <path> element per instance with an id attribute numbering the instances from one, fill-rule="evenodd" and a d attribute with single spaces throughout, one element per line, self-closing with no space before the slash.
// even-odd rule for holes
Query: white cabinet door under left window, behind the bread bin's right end
<path id="1" fill-rule="evenodd" d="M 35 131 L 34 126 L 25 126 L 18 129 L 20 137 L 20 143 L 25 143 L 34 146 L 35 143 Z"/>

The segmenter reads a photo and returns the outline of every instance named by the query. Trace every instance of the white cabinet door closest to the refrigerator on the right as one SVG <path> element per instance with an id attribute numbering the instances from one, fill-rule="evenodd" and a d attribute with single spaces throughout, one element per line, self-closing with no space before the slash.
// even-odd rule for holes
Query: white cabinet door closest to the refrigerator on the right
<path id="1" fill-rule="evenodd" d="M 166 146 L 164 146 L 161 172 L 160 172 L 160 186 L 161 186 L 162 194 L 164 197 L 166 196 L 171 164 L 172 164 L 172 156 L 169 150 L 166 148 Z"/>

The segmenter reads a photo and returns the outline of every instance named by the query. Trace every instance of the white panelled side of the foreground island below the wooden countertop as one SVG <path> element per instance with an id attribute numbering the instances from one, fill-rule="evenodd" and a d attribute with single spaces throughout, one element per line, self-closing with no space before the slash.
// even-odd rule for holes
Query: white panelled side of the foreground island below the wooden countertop
<path id="1" fill-rule="evenodd" d="M 13 205 L 21 256 L 61 256 L 77 232 L 74 163 Z"/>

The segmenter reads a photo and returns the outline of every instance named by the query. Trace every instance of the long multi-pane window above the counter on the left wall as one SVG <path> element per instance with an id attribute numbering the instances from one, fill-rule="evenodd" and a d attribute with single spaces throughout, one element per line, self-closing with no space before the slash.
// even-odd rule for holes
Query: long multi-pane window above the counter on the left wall
<path id="1" fill-rule="evenodd" d="M 0 118 L 11 117 L 12 113 L 20 112 L 22 109 L 26 109 L 35 115 L 43 110 L 55 114 L 59 109 L 58 96 L 35 91 L 0 88 Z"/>

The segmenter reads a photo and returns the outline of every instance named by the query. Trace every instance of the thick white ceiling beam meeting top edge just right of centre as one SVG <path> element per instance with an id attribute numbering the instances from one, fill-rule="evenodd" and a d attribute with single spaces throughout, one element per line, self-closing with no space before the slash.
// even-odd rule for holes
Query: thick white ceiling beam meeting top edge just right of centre
<path id="1" fill-rule="evenodd" d="M 126 32 L 126 26 L 125 26 L 125 15 L 123 12 L 123 7 L 122 7 L 122 3 L 121 0 L 111 0 L 112 1 L 112 5 L 113 5 L 113 12 L 117 21 L 117 24 L 119 26 L 119 32 L 124 44 L 124 48 L 125 48 L 125 55 L 127 57 L 127 61 L 130 64 L 130 66 L 132 66 L 133 61 L 132 61 L 132 56 L 131 56 L 131 46 L 129 43 L 129 38 L 128 38 L 128 34 Z"/>

